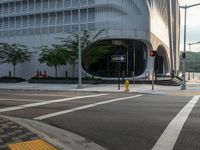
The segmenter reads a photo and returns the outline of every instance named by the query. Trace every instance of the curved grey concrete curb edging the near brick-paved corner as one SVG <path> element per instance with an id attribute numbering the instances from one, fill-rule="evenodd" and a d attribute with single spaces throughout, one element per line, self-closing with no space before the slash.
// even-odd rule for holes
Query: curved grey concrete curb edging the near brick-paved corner
<path id="1" fill-rule="evenodd" d="M 27 128 L 59 150 L 106 150 L 84 137 L 39 121 L 4 115 L 0 116 Z"/>

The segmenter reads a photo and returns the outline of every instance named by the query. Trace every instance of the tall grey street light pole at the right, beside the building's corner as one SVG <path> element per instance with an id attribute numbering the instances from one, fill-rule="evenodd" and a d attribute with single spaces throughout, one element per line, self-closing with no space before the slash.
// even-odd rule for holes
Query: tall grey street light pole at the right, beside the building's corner
<path id="1" fill-rule="evenodd" d="M 187 18 L 187 5 L 184 7 L 185 9 L 185 22 L 184 22 L 184 57 L 183 57 L 183 83 L 181 85 L 181 90 L 186 90 L 185 84 L 185 57 L 186 57 L 186 18 Z"/>

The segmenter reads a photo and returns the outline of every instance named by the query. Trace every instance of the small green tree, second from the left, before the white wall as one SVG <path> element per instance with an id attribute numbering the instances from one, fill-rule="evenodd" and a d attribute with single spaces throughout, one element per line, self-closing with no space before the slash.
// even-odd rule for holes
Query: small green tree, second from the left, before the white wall
<path id="1" fill-rule="evenodd" d="M 58 76 L 58 67 L 66 65 L 68 61 L 68 52 L 62 45 L 52 45 L 52 48 L 48 46 L 41 46 L 39 48 L 41 53 L 39 54 L 39 62 L 46 63 L 49 67 L 54 67 L 55 77 Z"/>

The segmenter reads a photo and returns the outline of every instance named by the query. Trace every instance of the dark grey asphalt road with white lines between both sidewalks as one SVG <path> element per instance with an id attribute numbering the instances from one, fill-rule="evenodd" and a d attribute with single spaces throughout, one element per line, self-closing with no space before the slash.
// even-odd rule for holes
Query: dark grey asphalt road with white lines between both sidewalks
<path id="1" fill-rule="evenodd" d="M 40 120 L 109 150 L 198 150 L 199 108 L 199 96 L 0 91 L 0 114 Z"/>

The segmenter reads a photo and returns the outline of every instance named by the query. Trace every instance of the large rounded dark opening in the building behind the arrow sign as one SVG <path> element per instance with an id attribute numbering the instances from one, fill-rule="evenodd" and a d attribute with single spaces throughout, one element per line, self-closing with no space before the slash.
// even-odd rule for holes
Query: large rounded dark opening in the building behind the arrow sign
<path id="1" fill-rule="evenodd" d="M 120 72 L 121 77 L 134 77 L 142 74 L 147 65 L 147 47 L 141 41 L 136 40 L 104 40 L 113 46 L 97 62 L 83 68 L 91 75 L 103 78 L 117 78 Z M 124 62 L 113 62 L 112 56 L 125 56 Z M 92 56 L 91 56 L 92 57 Z M 90 59 L 88 57 L 87 59 Z M 120 67 L 119 67 L 120 65 Z"/>

